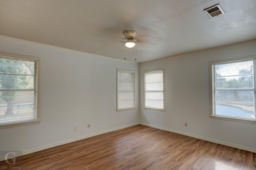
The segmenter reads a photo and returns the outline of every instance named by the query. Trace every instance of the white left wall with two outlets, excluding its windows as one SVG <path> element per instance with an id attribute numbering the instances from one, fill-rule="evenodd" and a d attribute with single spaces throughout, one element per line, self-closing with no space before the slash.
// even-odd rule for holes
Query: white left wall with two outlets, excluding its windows
<path id="1" fill-rule="evenodd" d="M 41 122 L 0 129 L 0 150 L 31 150 L 139 123 L 138 93 L 137 109 L 116 112 L 116 68 L 136 71 L 138 91 L 138 63 L 4 36 L 0 52 L 41 58 Z"/>

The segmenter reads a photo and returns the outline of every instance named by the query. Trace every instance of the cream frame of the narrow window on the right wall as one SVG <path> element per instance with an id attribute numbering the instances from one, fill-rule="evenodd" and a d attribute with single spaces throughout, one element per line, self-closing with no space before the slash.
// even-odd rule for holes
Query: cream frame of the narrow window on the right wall
<path id="1" fill-rule="evenodd" d="M 164 107 L 163 109 L 146 106 L 146 73 L 158 72 L 158 71 L 163 72 L 163 107 Z M 144 71 L 144 109 L 153 110 L 153 111 L 163 111 L 163 112 L 166 111 L 166 109 L 165 109 L 165 70 L 164 70 L 164 68 L 158 68 L 158 69 Z"/>

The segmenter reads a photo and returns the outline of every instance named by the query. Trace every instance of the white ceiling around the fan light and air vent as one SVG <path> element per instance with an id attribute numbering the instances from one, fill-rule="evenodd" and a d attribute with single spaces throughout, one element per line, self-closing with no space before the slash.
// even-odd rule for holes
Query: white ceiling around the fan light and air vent
<path id="1" fill-rule="evenodd" d="M 0 35 L 141 63 L 256 39 L 256 0 L 0 0 Z"/>

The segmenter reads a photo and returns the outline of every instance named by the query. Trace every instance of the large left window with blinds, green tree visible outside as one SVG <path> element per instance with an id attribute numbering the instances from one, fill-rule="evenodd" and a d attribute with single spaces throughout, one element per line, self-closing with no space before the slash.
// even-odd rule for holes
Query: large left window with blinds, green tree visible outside
<path id="1" fill-rule="evenodd" d="M 0 53 L 0 128 L 39 123 L 40 58 Z"/>

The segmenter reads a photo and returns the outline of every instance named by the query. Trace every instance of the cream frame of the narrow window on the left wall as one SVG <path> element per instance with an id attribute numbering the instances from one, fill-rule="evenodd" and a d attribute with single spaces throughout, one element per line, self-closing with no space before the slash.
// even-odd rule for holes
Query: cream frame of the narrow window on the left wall
<path id="1" fill-rule="evenodd" d="M 118 108 L 118 72 L 124 72 L 124 73 L 131 73 L 133 74 L 133 89 L 134 89 L 134 106 L 133 107 L 126 107 L 126 108 Z M 135 89 L 135 84 L 136 84 L 136 79 L 135 79 L 135 75 L 136 71 L 134 70 L 126 70 L 126 69 L 121 69 L 121 68 L 117 68 L 116 69 L 116 111 L 126 111 L 126 110 L 133 110 L 136 109 L 136 89 Z"/>

